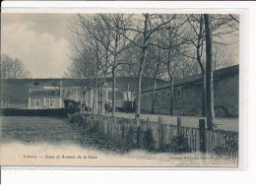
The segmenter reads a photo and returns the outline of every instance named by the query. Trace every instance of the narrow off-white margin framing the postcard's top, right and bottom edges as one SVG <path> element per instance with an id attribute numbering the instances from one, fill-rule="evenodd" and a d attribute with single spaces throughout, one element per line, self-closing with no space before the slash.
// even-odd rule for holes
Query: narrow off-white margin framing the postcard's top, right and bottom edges
<path id="1" fill-rule="evenodd" d="M 8 1 L 9 2 L 9 1 Z M 3 9 L 5 10 L 5 9 Z M 123 13 L 134 13 L 134 9 L 130 9 L 129 11 L 128 10 L 124 10 L 124 9 L 120 9 L 120 8 L 104 8 L 104 9 L 98 9 L 98 8 L 86 8 L 86 9 L 78 9 L 78 8 L 66 8 L 66 9 L 63 9 L 63 8 L 25 8 L 25 9 L 20 9 L 20 8 L 7 8 L 6 9 L 7 11 L 3 11 L 3 13 L 28 13 L 28 12 L 31 12 L 31 13 L 77 13 L 77 12 L 83 12 L 83 13 L 96 13 L 98 12 L 99 10 L 103 11 L 104 13 L 113 13 L 113 12 L 123 12 Z M 54 11 L 54 12 L 53 12 Z M 135 11 L 137 13 L 142 13 L 142 12 L 155 12 L 156 9 L 135 9 Z M 188 13 L 190 11 L 192 11 L 191 13 L 216 13 L 214 9 L 193 9 L 193 10 L 190 10 L 190 9 L 157 9 L 157 11 L 159 13 Z M 240 58 L 239 58 L 239 62 L 240 62 L 240 65 L 239 65 L 239 68 L 240 68 L 240 74 L 239 74 L 239 78 L 241 79 L 239 81 L 239 87 L 245 87 L 244 85 L 244 76 L 242 75 L 243 72 L 244 72 L 244 61 L 245 61 L 245 55 L 244 53 L 246 51 L 244 51 L 244 48 L 246 49 L 246 46 L 245 46 L 245 41 L 244 41 L 244 31 L 247 30 L 246 29 L 246 26 L 245 26 L 245 23 L 244 23 L 244 19 L 245 19 L 245 9 L 236 9 L 236 10 L 233 10 L 233 9 L 220 9 L 218 10 L 218 13 L 236 13 L 236 14 L 240 14 L 240 28 L 242 31 L 241 34 L 240 34 L 240 48 L 239 48 L 239 53 L 240 53 Z M 245 92 L 244 91 L 239 91 L 239 102 L 244 102 L 244 94 Z M 246 135 L 246 127 L 244 127 L 244 113 L 241 112 L 241 111 L 244 111 L 243 110 L 243 104 L 241 106 L 239 106 L 239 165 L 238 165 L 238 168 L 230 168 L 230 167 L 115 167 L 113 166 L 113 168 L 118 168 L 118 169 L 126 169 L 126 168 L 129 168 L 129 169 L 139 169 L 139 168 L 142 168 L 142 169 L 244 169 L 247 165 L 247 162 L 246 162 L 246 159 L 247 157 L 245 157 L 246 155 L 246 152 L 244 152 L 244 150 L 246 150 L 246 146 L 244 145 L 246 143 L 246 141 L 244 140 L 244 136 Z M 241 128 L 243 127 L 243 128 Z M 3 166 L 4 168 L 6 168 L 5 166 Z M 17 166 L 15 166 L 16 168 Z M 26 168 L 28 167 L 32 167 L 32 166 L 25 166 Z M 47 166 L 49 167 L 49 166 Z M 8 168 L 12 168 L 11 166 Z M 64 167 L 65 168 L 65 167 Z M 71 167 L 71 168 L 74 168 L 74 169 L 78 169 L 78 168 L 81 168 L 81 169 L 111 169 L 111 167 L 83 167 L 83 166 L 80 166 L 80 167 Z"/>

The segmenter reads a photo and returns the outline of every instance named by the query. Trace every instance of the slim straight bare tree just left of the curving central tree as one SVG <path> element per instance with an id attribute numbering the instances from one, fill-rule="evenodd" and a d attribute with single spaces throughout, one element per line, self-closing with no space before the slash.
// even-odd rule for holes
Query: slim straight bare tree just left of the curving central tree
<path id="1" fill-rule="evenodd" d="M 127 39 L 121 34 L 125 33 L 124 30 L 120 30 L 127 25 L 128 21 L 124 14 L 96 14 L 93 17 L 77 15 L 78 26 L 81 28 L 80 31 L 82 31 L 82 33 L 77 33 L 94 38 L 106 53 L 104 66 L 101 65 L 102 67 L 99 67 L 99 69 L 101 69 L 103 79 L 105 79 L 108 69 L 111 71 L 112 116 L 115 116 L 116 107 L 116 69 L 120 64 L 123 64 L 121 60 L 122 53 L 133 45 L 131 42 L 127 43 Z"/>

